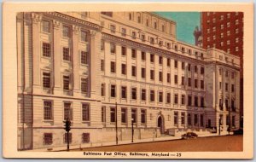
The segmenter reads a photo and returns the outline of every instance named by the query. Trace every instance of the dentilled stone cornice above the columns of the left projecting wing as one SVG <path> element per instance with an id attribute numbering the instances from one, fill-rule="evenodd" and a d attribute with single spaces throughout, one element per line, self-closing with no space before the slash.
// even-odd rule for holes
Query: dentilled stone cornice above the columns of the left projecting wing
<path id="1" fill-rule="evenodd" d="M 55 18 L 55 19 L 70 21 L 70 22 L 73 23 L 73 25 L 87 26 L 90 29 L 93 29 L 93 30 L 96 30 L 96 31 L 101 31 L 102 30 L 102 26 L 99 26 L 97 24 L 91 23 L 91 22 L 86 21 L 86 20 L 80 20 L 78 18 L 69 16 L 67 14 L 61 14 L 59 12 L 45 12 L 44 14 L 46 14 L 49 17 Z"/>

